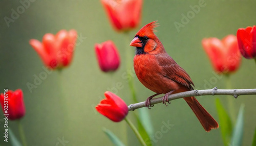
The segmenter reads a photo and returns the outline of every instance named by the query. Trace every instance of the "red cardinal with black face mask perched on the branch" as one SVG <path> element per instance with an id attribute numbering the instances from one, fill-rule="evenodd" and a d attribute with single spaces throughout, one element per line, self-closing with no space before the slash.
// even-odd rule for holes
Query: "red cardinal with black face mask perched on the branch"
<path id="1" fill-rule="evenodd" d="M 161 41 L 154 34 L 156 21 L 141 28 L 131 42 L 136 46 L 134 69 L 139 81 L 148 89 L 156 92 L 146 100 L 146 107 L 152 106 L 150 100 L 159 94 L 165 94 L 163 103 L 168 101 L 168 95 L 194 90 L 194 83 L 187 72 L 170 57 Z M 192 86 L 193 85 L 193 86 Z M 205 131 L 219 127 L 217 121 L 200 105 L 195 97 L 184 98 L 196 114 Z"/>

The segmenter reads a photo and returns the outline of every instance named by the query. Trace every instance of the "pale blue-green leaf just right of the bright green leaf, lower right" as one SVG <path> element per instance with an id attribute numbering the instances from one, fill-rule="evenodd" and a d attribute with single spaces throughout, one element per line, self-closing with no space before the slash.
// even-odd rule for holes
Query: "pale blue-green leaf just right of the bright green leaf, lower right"
<path id="1" fill-rule="evenodd" d="M 244 132 L 244 105 L 242 104 L 237 118 L 237 124 L 233 129 L 231 145 L 242 145 L 243 140 L 243 132 Z"/>

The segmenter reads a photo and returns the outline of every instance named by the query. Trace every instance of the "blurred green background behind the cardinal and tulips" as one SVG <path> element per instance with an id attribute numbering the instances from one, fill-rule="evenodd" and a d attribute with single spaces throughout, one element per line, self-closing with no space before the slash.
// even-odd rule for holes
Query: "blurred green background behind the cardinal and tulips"
<path id="1" fill-rule="evenodd" d="M 113 123 L 97 113 L 94 107 L 104 98 L 106 90 L 113 90 L 117 82 L 123 89 L 117 91 L 127 104 L 132 103 L 129 86 L 122 76 L 126 72 L 125 50 L 135 51 L 129 46 L 136 32 L 144 25 L 158 20 L 156 28 L 159 39 L 167 53 L 190 75 L 197 89 L 225 89 L 225 78 L 210 82 L 215 73 L 201 46 L 204 37 L 223 38 L 228 34 L 236 35 L 238 28 L 256 24 L 255 1 L 205 1 L 206 6 L 189 19 L 178 32 L 174 22 L 181 23 L 182 13 L 191 11 L 189 6 L 198 5 L 199 1 L 144 1 L 141 25 L 130 32 L 129 38 L 113 30 L 100 1 L 35 1 L 30 7 L 11 22 L 9 27 L 4 20 L 11 18 L 11 9 L 20 6 L 19 1 L 2 0 L 0 2 L 0 92 L 4 88 L 24 92 L 26 116 L 22 119 L 28 145 L 61 145 L 64 138 L 66 145 L 112 145 L 102 132 L 110 129 L 127 145 L 139 145 L 133 132 L 122 121 Z M 61 29 L 75 29 L 78 36 L 86 37 L 76 47 L 70 67 L 59 74 L 53 71 L 32 93 L 27 83 L 33 83 L 34 76 L 39 76 L 42 61 L 29 44 L 32 38 L 41 41 L 46 33 L 56 34 Z M 129 39 L 129 41 L 127 40 Z M 119 49 L 121 66 L 114 75 L 104 74 L 95 58 L 94 44 L 113 40 Z M 77 40 L 79 42 L 79 40 Z M 129 60 L 133 62 L 133 57 Z M 132 69 L 132 68 L 130 68 Z M 256 65 L 253 60 L 242 59 L 241 67 L 231 76 L 232 88 L 255 88 Z M 134 77 L 135 88 L 140 102 L 153 92 L 146 89 Z M 215 99 L 218 96 L 198 97 L 199 102 L 217 119 Z M 219 96 L 227 108 L 227 97 Z M 232 98 L 232 97 L 229 97 Z M 250 145 L 256 127 L 255 95 L 239 96 L 234 99 L 238 113 L 241 103 L 245 104 L 245 128 L 243 145 Z M 173 127 L 154 145 L 223 145 L 220 129 L 206 133 L 198 119 L 184 100 L 172 101 L 168 107 L 156 105 L 150 110 L 154 132 L 160 131 L 162 122 Z M 1 114 L 1 119 L 3 115 Z M 129 113 L 132 121 L 133 112 Z M 0 144 L 4 142 L 3 120 L 0 120 Z M 18 136 L 15 121 L 9 121 L 9 127 Z M 153 135 L 154 137 L 154 135 Z"/>

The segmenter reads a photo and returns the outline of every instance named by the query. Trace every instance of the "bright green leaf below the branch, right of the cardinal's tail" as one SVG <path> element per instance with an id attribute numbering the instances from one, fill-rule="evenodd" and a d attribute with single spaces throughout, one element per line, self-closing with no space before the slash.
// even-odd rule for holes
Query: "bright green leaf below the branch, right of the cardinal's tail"
<path id="1" fill-rule="evenodd" d="M 217 108 L 217 112 L 220 120 L 221 136 L 222 136 L 224 145 L 228 145 L 230 142 L 231 133 L 232 133 L 231 119 L 228 116 L 223 105 L 221 104 L 220 99 L 216 99 L 216 108 Z"/>

